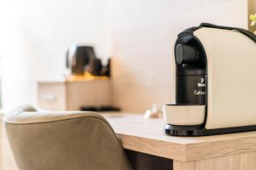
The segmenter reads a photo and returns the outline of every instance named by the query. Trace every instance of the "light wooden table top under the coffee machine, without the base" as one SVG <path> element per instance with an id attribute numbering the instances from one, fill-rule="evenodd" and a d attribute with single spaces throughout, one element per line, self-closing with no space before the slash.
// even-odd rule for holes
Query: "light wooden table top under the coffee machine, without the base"
<path id="1" fill-rule="evenodd" d="M 256 132 L 207 137 L 172 137 L 163 133 L 163 118 L 144 119 L 134 114 L 102 114 L 123 146 L 177 161 L 196 161 L 256 150 Z"/>

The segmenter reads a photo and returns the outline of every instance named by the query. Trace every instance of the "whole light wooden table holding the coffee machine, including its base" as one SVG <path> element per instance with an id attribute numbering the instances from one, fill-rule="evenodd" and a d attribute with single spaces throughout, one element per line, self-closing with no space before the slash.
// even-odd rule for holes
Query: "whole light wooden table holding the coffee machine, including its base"
<path id="1" fill-rule="evenodd" d="M 146 120 L 139 115 L 103 116 L 108 119 L 126 150 L 151 156 L 151 160 L 160 157 L 172 161 L 171 169 L 256 169 L 256 132 L 172 137 L 163 133 L 163 118 Z"/>

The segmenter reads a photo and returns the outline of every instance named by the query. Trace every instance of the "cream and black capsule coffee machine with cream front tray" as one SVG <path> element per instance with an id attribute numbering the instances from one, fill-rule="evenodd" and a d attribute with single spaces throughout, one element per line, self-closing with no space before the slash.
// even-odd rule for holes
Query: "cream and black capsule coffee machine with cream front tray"
<path id="1" fill-rule="evenodd" d="M 203 136 L 256 130 L 256 36 L 202 23 L 177 36 L 175 93 L 164 132 Z"/>

